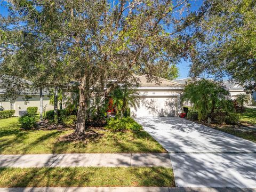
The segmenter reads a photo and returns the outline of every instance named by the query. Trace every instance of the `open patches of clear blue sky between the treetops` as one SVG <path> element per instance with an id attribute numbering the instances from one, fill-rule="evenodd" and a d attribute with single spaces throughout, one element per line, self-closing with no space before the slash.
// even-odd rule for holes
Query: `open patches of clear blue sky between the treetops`
<path id="1" fill-rule="evenodd" d="M 5 4 L 5 2 L 3 2 L 3 3 Z M 193 3 L 191 3 L 191 9 L 195 10 L 201 4 L 202 4 L 202 1 L 197 0 Z M 2 6 L 1 4 L 0 4 L 0 14 L 2 14 L 4 17 L 6 17 L 8 15 L 8 10 L 6 9 L 6 7 Z M 177 67 L 179 68 L 179 77 L 178 78 L 188 77 L 189 65 L 190 65 L 189 61 L 181 60 L 181 62 L 177 65 Z"/>

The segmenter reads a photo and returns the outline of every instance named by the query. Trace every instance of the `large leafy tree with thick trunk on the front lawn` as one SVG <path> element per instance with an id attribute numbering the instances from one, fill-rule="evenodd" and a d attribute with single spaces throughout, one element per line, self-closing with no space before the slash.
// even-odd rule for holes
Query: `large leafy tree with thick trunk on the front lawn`
<path id="1" fill-rule="evenodd" d="M 183 12 L 190 11 L 186 0 L 11 2 L 12 9 L 26 12 L 19 15 L 25 23 L 30 23 L 30 15 L 42 26 L 34 31 L 42 29 L 39 37 L 52 47 L 47 69 L 53 70 L 50 79 L 57 81 L 51 85 L 64 84 L 66 75 L 79 84 L 77 137 L 86 133 L 87 103 L 95 90 L 104 91 L 109 81 L 122 83 L 133 74 L 157 81 L 159 71 L 175 65 L 190 49 L 182 36 L 186 27 L 175 27 L 185 17 Z"/>

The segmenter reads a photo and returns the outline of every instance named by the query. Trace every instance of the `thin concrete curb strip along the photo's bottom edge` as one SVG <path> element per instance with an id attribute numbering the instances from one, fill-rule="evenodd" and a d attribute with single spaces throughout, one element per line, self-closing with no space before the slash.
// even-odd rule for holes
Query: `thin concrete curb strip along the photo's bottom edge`
<path id="1" fill-rule="evenodd" d="M 183 187 L 27 187 L 0 188 L 1 192 L 255 192 L 255 188 Z"/>

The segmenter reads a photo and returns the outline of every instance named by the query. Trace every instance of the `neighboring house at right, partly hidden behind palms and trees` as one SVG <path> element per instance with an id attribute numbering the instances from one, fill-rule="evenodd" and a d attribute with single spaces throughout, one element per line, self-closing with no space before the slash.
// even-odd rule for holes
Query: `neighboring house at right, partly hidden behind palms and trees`
<path id="1" fill-rule="evenodd" d="M 180 83 L 182 85 L 185 85 L 186 82 L 188 82 L 190 80 L 190 78 L 182 78 L 182 79 L 175 79 L 173 80 L 174 82 Z M 231 98 L 230 99 L 236 99 L 236 96 L 238 94 L 246 94 L 244 92 L 244 88 L 236 83 L 231 83 L 229 81 L 223 81 L 222 82 L 223 86 L 225 86 L 227 88 L 227 90 L 230 93 Z M 252 98 L 252 95 L 250 95 L 250 97 Z M 186 103 L 189 105 L 189 103 Z M 249 105 L 251 105 L 251 102 L 249 103 Z"/>

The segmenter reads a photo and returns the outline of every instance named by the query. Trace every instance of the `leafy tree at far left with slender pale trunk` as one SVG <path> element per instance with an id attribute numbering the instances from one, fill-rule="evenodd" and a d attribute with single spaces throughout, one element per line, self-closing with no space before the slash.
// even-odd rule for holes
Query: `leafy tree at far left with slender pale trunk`
<path id="1" fill-rule="evenodd" d="M 62 73 L 61 46 L 57 12 L 53 6 L 45 6 L 42 10 L 37 1 L 11 1 L 9 17 L 1 17 L 0 53 L 1 78 L 3 85 L 15 84 L 15 89 L 5 86 L 6 95 L 17 95 L 30 90 L 40 93 L 40 118 L 43 113 L 42 90 L 53 87 L 58 91 L 63 86 L 67 74 Z M 47 2 L 43 2 L 47 3 Z M 59 43 L 59 44 L 58 44 Z M 8 78 L 4 78 L 6 76 Z M 31 84 L 24 85 L 26 79 Z M 11 80 L 11 81 L 10 81 Z M 26 82 L 26 81 L 25 81 Z M 21 90 L 21 85 L 26 89 Z M 7 89 L 6 89 L 7 88 Z M 58 103 L 54 102 L 57 118 Z"/>

